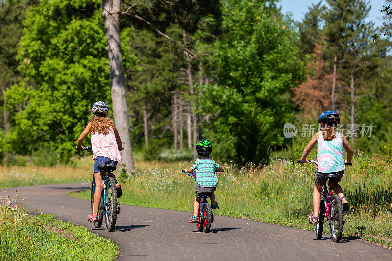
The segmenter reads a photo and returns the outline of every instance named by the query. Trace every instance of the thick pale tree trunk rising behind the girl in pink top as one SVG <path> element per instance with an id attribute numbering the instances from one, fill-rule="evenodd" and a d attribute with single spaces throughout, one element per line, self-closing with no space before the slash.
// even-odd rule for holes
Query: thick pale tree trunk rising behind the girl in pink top
<path id="1" fill-rule="evenodd" d="M 121 152 L 122 163 L 126 165 L 128 170 L 135 170 L 120 43 L 120 0 L 102 0 L 102 9 L 108 43 L 106 50 L 109 57 L 110 80 L 112 84 L 113 116 L 124 147 L 124 150 Z"/>

